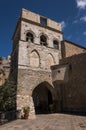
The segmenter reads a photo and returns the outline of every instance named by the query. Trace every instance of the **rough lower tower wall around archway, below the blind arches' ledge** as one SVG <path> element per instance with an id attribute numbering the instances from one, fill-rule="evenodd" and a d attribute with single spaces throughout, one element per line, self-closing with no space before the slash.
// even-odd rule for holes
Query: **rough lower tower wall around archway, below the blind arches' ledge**
<path id="1" fill-rule="evenodd" d="M 31 69 L 18 69 L 17 108 L 22 109 L 27 104 L 30 114 L 34 115 L 33 90 L 41 83 L 48 82 L 52 86 L 51 73 Z M 53 87 L 51 88 L 52 91 Z"/>

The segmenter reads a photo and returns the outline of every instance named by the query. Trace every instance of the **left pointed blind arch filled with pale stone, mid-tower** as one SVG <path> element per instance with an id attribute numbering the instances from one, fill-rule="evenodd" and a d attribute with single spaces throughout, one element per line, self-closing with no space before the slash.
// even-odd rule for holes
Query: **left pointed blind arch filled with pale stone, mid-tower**
<path id="1" fill-rule="evenodd" d="M 33 50 L 30 54 L 30 66 L 31 67 L 40 66 L 40 55 L 37 50 Z"/>

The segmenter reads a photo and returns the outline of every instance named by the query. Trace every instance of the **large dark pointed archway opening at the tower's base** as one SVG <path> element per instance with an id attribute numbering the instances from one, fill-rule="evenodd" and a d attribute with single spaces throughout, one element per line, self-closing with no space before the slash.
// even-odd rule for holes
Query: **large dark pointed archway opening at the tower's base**
<path id="1" fill-rule="evenodd" d="M 32 97 L 36 114 L 50 113 L 49 106 L 53 104 L 53 94 L 53 88 L 47 82 L 42 82 L 33 90 Z"/>

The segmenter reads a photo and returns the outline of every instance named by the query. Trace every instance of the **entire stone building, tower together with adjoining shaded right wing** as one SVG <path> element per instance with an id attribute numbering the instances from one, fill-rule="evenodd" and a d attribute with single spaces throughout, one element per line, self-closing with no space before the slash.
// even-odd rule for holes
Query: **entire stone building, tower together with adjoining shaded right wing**
<path id="1" fill-rule="evenodd" d="M 13 35 L 11 73 L 17 84 L 17 109 L 29 105 L 30 117 L 49 113 L 52 104 L 54 112 L 86 112 L 85 75 L 80 71 L 86 65 L 80 54 L 86 49 L 62 40 L 61 24 L 22 9 Z"/>

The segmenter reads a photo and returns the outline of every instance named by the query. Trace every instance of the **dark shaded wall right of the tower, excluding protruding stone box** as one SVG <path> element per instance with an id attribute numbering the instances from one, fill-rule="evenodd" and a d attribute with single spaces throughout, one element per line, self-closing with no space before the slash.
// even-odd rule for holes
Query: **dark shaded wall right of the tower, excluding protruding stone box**
<path id="1" fill-rule="evenodd" d="M 63 110 L 86 113 L 86 53 L 62 59 L 69 64 L 69 80 L 62 86 Z"/>

